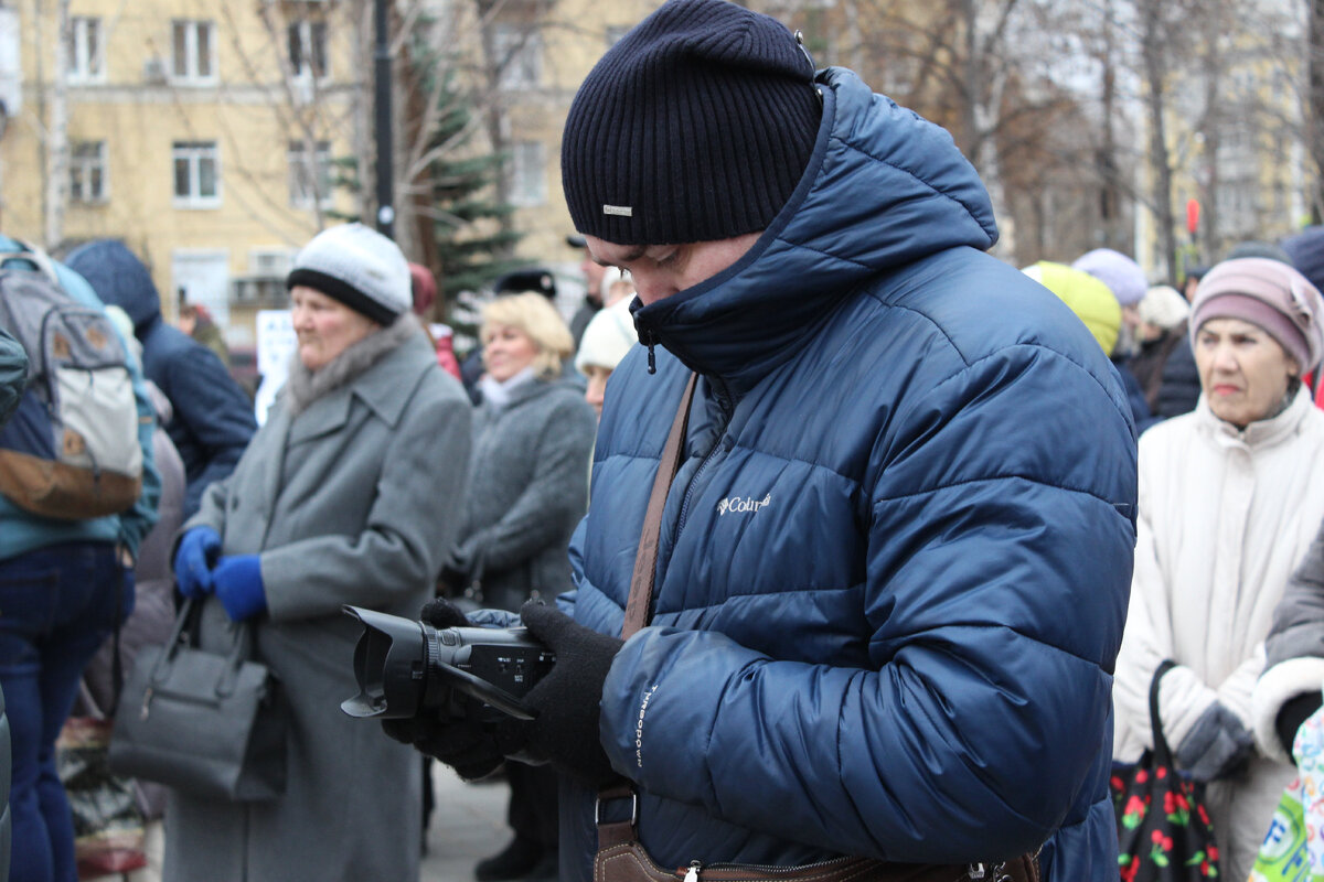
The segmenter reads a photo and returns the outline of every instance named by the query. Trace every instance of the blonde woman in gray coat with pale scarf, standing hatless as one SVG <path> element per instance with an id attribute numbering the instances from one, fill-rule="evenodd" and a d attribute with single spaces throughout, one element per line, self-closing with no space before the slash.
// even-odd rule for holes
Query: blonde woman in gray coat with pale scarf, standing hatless
<path id="1" fill-rule="evenodd" d="M 588 506 L 597 419 L 579 386 L 559 380 L 573 341 L 547 298 L 519 294 L 483 308 L 482 402 L 474 418 L 473 492 L 448 582 L 483 606 L 516 611 L 571 587 L 571 533 Z M 478 882 L 555 879 L 556 776 L 507 764 L 511 845 L 482 861 Z"/>

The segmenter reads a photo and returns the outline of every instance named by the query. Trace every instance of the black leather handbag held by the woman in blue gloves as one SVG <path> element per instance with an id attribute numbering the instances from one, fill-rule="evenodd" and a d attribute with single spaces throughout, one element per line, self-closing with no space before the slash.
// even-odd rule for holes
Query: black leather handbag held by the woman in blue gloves
<path id="1" fill-rule="evenodd" d="M 197 645 L 201 604 L 187 600 L 169 643 L 144 647 L 124 682 L 110 770 L 209 799 L 285 792 L 287 707 L 275 674 L 250 660 L 252 625 L 229 653 Z"/>

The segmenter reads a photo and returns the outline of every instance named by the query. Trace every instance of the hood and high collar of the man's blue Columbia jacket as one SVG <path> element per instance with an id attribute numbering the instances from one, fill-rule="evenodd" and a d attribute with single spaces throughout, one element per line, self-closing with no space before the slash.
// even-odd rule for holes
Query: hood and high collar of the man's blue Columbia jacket
<path id="1" fill-rule="evenodd" d="M 867 279 L 955 246 L 997 241 L 988 192 L 951 135 L 855 74 L 818 75 L 824 114 L 796 192 L 733 266 L 641 307 L 639 341 L 739 395 L 790 358 Z M 973 295 L 972 296 L 977 296 Z"/>

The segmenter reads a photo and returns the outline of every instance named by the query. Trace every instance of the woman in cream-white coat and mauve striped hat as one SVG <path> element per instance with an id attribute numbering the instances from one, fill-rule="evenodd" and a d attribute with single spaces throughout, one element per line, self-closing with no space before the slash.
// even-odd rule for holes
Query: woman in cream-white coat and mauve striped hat
<path id="1" fill-rule="evenodd" d="M 1245 879 L 1291 771 L 1259 754 L 1251 689 L 1292 567 L 1324 517 L 1324 413 L 1300 381 L 1320 361 L 1320 294 L 1286 263 L 1226 261 L 1190 327 L 1201 398 L 1140 439 L 1131 608 L 1113 684 L 1113 758 L 1151 746 L 1148 694 L 1177 766 L 1209 782 L 1227 878 Z"/>

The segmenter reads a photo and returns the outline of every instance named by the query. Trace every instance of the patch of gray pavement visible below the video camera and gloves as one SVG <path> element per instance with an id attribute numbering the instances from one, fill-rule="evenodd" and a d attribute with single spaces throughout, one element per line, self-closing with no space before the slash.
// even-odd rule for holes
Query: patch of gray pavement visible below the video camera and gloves
<path id="1" fill-rule="evenodd" d="M 474 865 L 506 848 L 504 782 L 466 784 L 441 763 L 432 764 L 437 809 L 428 825 L 428 853 L 422 857 L 421 882 L 470 882 Z"/>

